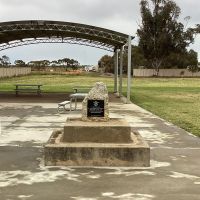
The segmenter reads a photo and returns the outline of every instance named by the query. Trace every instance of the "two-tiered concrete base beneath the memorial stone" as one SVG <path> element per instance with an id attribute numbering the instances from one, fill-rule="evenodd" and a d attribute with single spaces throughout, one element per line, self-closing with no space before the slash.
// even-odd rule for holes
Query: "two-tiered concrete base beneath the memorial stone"
<path id="1" fill-rule="evenodd" d="M 148 167 L 150 148 L 123 119 L 69 119 L 44 148 L 45 165 Z"/>

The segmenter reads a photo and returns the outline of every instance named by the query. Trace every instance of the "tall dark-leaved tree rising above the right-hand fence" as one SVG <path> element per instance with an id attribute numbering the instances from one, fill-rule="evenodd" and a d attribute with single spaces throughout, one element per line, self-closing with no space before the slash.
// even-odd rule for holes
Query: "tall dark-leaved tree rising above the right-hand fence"
<path id="1" fill-rule="evenodd" d="M 193 31 L 177 22 L 180 12 L 173 0 L 141 0 L 139 47 L 156 75 L 170 53 L 183 53 L 193 42 Z"/>

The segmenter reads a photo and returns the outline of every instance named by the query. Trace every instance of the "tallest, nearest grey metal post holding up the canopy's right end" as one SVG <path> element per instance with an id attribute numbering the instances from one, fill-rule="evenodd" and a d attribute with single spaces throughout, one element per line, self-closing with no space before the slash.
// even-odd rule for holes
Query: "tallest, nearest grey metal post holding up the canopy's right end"
<path id="1" fill-rule="evenodd" d="M 128 37 L 127 103 L 131 102 L 131 36 Z"/>

